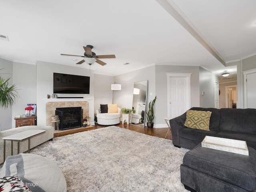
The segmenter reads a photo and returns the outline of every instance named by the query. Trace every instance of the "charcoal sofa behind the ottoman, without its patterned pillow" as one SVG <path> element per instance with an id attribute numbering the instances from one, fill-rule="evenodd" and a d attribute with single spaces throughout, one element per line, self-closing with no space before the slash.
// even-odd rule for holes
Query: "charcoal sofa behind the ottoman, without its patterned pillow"
<path id="1" fill-rule="evenodd" d="M 211 111 L 210 130 L 198 130 L 184 126 L 186 113 L 170 120 L 174 146 L 193 149 L 206 135 L 244 140 L 256 149 L 256 109 L 200 108 L 190 110 Z"/>

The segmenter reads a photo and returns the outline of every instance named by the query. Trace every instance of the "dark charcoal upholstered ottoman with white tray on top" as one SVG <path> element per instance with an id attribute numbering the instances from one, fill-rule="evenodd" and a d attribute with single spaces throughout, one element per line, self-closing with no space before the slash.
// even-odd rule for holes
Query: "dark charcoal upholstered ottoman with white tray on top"
<path id="1" fill-rule="evenodd" d="M 249 192 L 256 188 L 256 150 L 249 156 L 204 148 L 188 151 L 180 166 L 185 188 L 198 192 Z"/>

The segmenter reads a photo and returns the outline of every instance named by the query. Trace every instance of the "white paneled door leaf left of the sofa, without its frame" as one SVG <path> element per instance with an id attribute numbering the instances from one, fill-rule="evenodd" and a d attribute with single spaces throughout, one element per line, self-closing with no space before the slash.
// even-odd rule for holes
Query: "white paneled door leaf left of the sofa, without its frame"
<path id="1" fill-rule="evenodd" d="M 189 109 L 189 81 L 187 77 L 170 77 L 169 116 L 175 118 Z"/>

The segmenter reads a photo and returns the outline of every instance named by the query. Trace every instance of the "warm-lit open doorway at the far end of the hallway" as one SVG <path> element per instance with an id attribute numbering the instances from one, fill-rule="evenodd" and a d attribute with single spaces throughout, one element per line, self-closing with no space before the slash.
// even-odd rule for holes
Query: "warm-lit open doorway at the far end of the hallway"
<path id="1" fill-rule="evenodd" d="M 226 90 L 226 108 L 236 108 L 237 86 L 225 86 Z"/>

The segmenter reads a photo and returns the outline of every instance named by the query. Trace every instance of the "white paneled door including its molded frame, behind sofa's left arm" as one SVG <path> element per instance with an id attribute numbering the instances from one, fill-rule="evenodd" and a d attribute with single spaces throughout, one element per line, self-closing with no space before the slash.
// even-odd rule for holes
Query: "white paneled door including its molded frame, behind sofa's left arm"
<path id="1" fill-rule="evenodd" d="M 167 73 L 168 117 L 175 118 L 190 109 L 191 73 Z"/>

